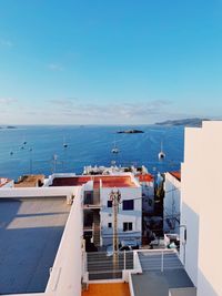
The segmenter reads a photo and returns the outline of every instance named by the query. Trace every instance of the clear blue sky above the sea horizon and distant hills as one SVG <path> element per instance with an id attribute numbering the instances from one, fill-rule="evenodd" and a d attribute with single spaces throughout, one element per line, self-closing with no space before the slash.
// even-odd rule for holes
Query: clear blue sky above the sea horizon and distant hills
<path id="1" fill-rule="evenodd" d="M 222 0 L 1 0 L 0 124 L 222 118 Z"/>

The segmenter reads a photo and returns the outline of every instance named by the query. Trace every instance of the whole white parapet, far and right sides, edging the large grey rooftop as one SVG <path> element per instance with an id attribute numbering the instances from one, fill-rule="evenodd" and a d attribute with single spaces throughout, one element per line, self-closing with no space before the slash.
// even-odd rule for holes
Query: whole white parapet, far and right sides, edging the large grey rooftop
<path id="1" fill-rule="evenodd" d="M 83 218 L 82 218 L 82 188 L 79 187 L 50 188 L 13 188 L 0 191 L 0 197 L 40 197 L 71 193 L 74 196 L 73 204 L 64 227 L 64 232 L 59 245 L 54 264 L 44 293 L 37 294 L 13 294 L 14 296 L 80 296 L 81 279 L 83 276 Z M 71 191 L 71 192 L 70 192 Z M 4 295 L 7 296 L 7 295 Z"/>

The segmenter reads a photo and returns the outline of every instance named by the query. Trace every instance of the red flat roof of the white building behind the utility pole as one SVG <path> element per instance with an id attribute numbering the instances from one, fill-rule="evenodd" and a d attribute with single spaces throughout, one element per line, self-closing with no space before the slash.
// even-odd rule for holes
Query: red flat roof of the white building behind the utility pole
<path id="1" fill-rule="evenodd" d="M 52 186 L 81 186 L 89 181 L 93 181 L 93 187 L 135 187 L 130 176 L 75 176 L 75 177 L 56 177 Z"/>

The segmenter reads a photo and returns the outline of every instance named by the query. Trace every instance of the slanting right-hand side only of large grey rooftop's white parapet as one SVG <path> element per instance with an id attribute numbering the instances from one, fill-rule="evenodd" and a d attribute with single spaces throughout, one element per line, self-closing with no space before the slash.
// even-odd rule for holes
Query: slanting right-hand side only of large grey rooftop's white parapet
<path id="1" fill-rule="evenodd" d="M 83 229 L 82 229 L 82 188 L 75 187 L 75 198 L 61 238 L 47 293 L 53 295 L 80 296 L 83 276 Z"/>

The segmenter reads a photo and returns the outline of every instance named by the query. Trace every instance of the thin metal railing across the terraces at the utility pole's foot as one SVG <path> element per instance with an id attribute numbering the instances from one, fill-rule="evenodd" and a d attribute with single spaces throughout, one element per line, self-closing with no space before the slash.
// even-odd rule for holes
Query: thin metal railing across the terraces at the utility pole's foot
<path id="1" fill-rule="evenodd" d="M 124 272 L 144 273 L 183 268 L 173 249 L 137 249 L 109 254 L 107 252 L 85 253 L 85 272 L 89 280 L 123 279 Z"/>

